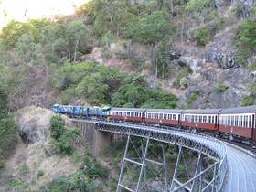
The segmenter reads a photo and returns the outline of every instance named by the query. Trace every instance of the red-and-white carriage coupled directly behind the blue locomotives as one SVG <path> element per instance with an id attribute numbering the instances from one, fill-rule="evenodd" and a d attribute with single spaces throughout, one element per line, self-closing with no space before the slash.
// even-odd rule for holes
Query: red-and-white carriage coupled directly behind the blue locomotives
<path id="1" fill-rule="evenodd" d="M 144 122 L 145 109 L 139 108 L 112 108 L 110 119 Z"/>

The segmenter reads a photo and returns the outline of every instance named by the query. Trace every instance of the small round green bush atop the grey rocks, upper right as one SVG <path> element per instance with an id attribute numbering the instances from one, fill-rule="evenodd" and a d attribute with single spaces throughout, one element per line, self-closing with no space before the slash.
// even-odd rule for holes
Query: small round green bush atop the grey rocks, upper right
<path id="1" fill-rule="evenodd" d="M 205 46 L 211 39 L 210 30 L 208 29 L 208 27 L 198 28 L 193 32 L 193 37 L 197 41 L 198 45 Z"/>

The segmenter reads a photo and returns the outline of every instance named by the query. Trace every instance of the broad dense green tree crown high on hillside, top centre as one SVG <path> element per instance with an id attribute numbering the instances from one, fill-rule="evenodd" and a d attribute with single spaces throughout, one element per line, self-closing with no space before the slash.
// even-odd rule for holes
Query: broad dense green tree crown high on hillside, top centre
<path id="1" fill-rule="evenodd" d="M 151 15 L 142 16 L 124 28 L 124 37 L 142 43 L 157 43 L 172 34 L 169 16 L 165 11 L 155 11 Z"/>

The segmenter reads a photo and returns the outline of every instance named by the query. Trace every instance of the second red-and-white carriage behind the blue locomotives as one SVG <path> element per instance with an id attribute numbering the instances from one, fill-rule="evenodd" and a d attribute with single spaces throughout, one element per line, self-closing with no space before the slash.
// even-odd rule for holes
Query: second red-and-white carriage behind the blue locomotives
<path id="1" fill-rule="evenodd" d="M 179 124 L 183 110 L 147 109 L 145 112 L 146 123 Z"/>

